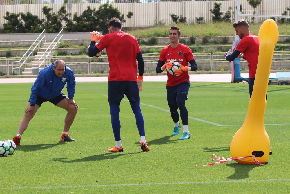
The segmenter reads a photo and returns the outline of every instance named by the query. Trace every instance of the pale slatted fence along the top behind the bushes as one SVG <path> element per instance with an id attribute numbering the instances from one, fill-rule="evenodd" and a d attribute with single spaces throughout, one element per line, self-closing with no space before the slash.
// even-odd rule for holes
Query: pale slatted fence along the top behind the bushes
<path id="1" fill-rule="evenodd" d="M 79 16 L 88 6 L 98 9 L 104 3 L 112 3 L 113 7 L 118 8 L 125 15 L 125 18 L 128 12 L 133 12 L 133 16 L 130 19 L 126 19 L 122 26 L 134 28 L 154 26 L 156 24 L 172 24 L 173 21 L 169 14 L 186 17 L 188 24 L 196 23 L 197 18 L 203 18 L 204 22 L 210 22 L 213 16 L 210 10 L 214 8 L 215 2 L 221 3 L 220 12 L 223 15 L 229 11 L 231 21 L 233 21 L 235 0 L 68 0 L 66 11 L 72 14 L 69 18 L 72 20 L 74 13 Z M 43 6 L 53 8 L 51 13 L 57 14 L 62 4 L 63 0 L 0 0 L 0 27 L 3 27 L 3 24 L 7 22 L 3 18 L 6 12 L 16 14 L 30 12 L 33 15 L 37 15 L 39 19 L 46 20 L 45 15 L 42 13 Z M 290 7 L 290 0 L 263 0 L 256 8 L 251 7 L 247 0 L 240 0 L 240 5 L 242 8 L 240 13 L 244 14 L 281 15 L 284 11 L 287 11 L 287 6 Z M 289 11 L 287 14 L 289 14 Z M 241 19 L 257 23 L 264 21 L 266 18 L 255 17 L 252 20 L 251 17 L 241 17 Z"/>

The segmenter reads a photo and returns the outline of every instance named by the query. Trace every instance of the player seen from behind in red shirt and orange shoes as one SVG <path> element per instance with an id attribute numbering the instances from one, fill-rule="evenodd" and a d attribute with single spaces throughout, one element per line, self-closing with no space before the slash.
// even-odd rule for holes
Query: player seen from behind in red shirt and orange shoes
<path id="1" fill-rule="evenodd" d="M 90 57 L 106 48 L 108 61 L 110 65 L 108 99 L 110 105 L 110 114 L 113 133 L 116 145 L 108 149 L 109 152 L 123 152 L 120 135 L 120 102 L 127 96 L 133 113 L 135 114 L 137 128 L 140 135 L 140 144 L 143 151 L 149 151 L 145 140 L 144 118 L 140 107 L 139 91 L 142 90 L 144 60 L 137 39 L 125 32 L 122 32 L 122 23 L 118 18 L 112 18 L 109 21 L 109 34 L 100 36 L 93 32 L 92 42 L 88 49 Z M 99 44 L 96 41 L 100 39 Z M 137 76 L 137 64 L 139 75 Z"/>

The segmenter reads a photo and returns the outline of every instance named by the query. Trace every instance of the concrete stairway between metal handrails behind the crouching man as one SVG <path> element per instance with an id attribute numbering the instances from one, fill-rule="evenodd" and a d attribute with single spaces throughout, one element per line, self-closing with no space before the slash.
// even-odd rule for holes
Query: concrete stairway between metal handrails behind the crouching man
<path id="1" fill-rule="evenodd" d="M 48 55 L 50 52 L 50 49 L 46 51 L 48 46 L 51 44 L 51 42 L 44 43 L 41 48 L 39 49 L 39 52 L 37 52 L 37 55 L 33 56 L 32 61 L 30 61 L 29 65 L 26 65 L 26 68 L 24 68 L 24 71 L 22 72 L 22 75 L 38 75 L 39 71 L 44 67 L 44 63 L 40 68 L 38 66 L 41 64 L 41 62 L 46 58 L 50 58 L 52 56 L 52 53 L 56 50 L 56 47 L 52 50 L 52 52 Z M 53 43 L 50 48 L 52 48 L 56 43 Z M 46 51 L 46 53 L 45 53 Z M 41 58 L 41 56 L 45 53 L 45 55 Z M 47 56 L 46 56 L 47 55 Z M 38 60 L 41 58 L 41 60 L 38 62 Z M 45 64 L 46 65 L 46 64 Z"/>

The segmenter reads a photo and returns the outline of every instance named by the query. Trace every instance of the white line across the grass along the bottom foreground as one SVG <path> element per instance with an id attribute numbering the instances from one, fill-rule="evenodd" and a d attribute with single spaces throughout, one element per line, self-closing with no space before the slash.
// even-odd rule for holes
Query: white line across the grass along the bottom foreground
<path id="1" fill-rule="evenodd" d="M 250 183 L 290 181 L 290 179 L 266 179 L 266 180 L 238 180 L 238 181 L 204 181 L 204 182 L 175 182 L 175 183 L 145 183 L 145 184 L 112 184 L 112 185 L 71 185 L 71 186 L 38 186 L 38 187 L 1 187 L 2 190 L 9 189 L 47 189 L 47 188 L 88 188 L 88 187 L 112 187 L 112 186 L 150 186 L 150 185 L 177 185 L 177 184 L 212 184 L 212 183 Z"/>

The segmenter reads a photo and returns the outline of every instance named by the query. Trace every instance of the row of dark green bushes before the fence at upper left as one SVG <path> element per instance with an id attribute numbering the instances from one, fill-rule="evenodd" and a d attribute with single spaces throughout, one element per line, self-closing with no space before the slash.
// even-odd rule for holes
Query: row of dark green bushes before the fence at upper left
<path id="1" fill-rule="evenodd" d="M 119 18 L 122 22 L 126 22 L 127 18 L 133 16 L 133 12 L 128 12 L 126 19 L 117 8 L 112 4 L 104 4 L 98 10 L 87 7 L 84 12 L 77 16 L 73 15 L 71 20 L 71 13 L 66 11 L 67 0 L 64 0 L 61 8 L 57 14 L 51 13 L 53 8 L 44 6 L 42 12 L 46 15 L 46 19 L 40 20 L 38 16 L 32 15 L 30 12 L 27 14 L 10 13 L 7 12 L 4 19 L 8 20 L 3 25 L 4 33 L 39 33 L 46 29 L 46 32 L 59 32 L 65 24 L 64 31 L 66 32 L 87 32 L 87 31 L 102 31 L 103 34 L 108 33 L 109 20 L 113 17 Z M 21 17 L 20 17 L 21 16 Z"/>

